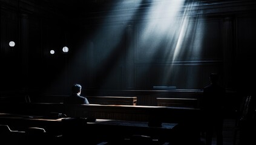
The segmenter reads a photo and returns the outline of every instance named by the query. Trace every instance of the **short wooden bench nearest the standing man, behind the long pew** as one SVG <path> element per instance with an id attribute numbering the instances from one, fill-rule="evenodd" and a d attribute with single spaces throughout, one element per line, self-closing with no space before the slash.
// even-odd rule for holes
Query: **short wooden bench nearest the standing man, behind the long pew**
<path id="1" fill-rule="evenodd" d="M 157 106 L 199 108 L 197 98 L 157 98 Z"/>

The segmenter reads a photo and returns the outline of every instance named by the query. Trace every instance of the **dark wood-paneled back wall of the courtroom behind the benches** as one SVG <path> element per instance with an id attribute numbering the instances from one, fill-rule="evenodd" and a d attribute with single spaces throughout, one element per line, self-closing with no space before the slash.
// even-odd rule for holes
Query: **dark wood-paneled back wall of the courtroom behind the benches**
<path id="1" fill-rule="evenodd" d="M 169 16 L 146 18 L 153 4 L 137 7 L 128 2 L 128 10 L 117 7 L 119 13 L 108 5 L 104 11 L 99 7 L 87 14 L 71 12 L 66 16 L 43 3 L 17 2 L 0 3 L 2 91 L 12 86 L 67 95 L 75 82 L 84 89 L 99 90 L 150 90 L 153 86 L 202 89 L 209 83 L 210 72 L 218 72 L 220 84 L 227 89 L 251 91 L 255 1 L 198 2 L 188 15 L 188 24 L 197 28 L 183 37 L 185 55 L 175 61 L 166 57 L 174 55 L 174 42 L 159 37 L 141 40 L 149 22 L 161 24 Z M 106 11 L 112 14 L 106 15 Z M 199 33 L 202 37 L 195 37 Z M 165 35 L 171 34 L 166 31 Z M 158 39 L 161 43 L 152 47 L 151 42 Z M 10 40 L 16 41 L 15 47 L 8 46 Z M 66 45 L 68 54 L 62 53 Z M 200 54 L 195 53 L 199 48 Z M 56 53 L 51 55 L 50 50 Z"/>

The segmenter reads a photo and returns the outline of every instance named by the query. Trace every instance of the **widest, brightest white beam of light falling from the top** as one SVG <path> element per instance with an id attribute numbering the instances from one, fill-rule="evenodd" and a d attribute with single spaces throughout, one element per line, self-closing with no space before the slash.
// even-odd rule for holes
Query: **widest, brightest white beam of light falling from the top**
<path id="1" fill-rule="evenodd" d="M 148 21 L 141 27 L 143 30 L 139 33 L 139 47 L 137 48 L 139 57 L 137 59 L 140 60 L 142 57 L 151 60 L 153 64 L 161 61 L 163 64 L 169 64 L 169 68 L 162 70 L 165 72 L 158 77 L 156 82 L 158 84 L 155 85 L 177 85 L 176 78 L 184 73 L 183 70 L 177 69 L 177 63 L 183 59 L 191 61 L 200 58 L 200 43 L 202 43 L 202 33 L 200 33 L 202 28 L 200 27 L 202 25 L 199 16 L 195 14 L 197 6 L 197 2 L 185 0 L 154 1 L 151 5 L 146 15 Z M 150 64 L 148 70 L 144 67 L 145 70 L 142 71 L 141 76 L 144 75 L 143 73 L 152 71 L 150 67 L 152 67 Z M 185 73 L 183 77 L 190 79 L 192 75 Z M 193 80 L 186 81 L 188 82 L 186 88 L 194 87 Z"/>

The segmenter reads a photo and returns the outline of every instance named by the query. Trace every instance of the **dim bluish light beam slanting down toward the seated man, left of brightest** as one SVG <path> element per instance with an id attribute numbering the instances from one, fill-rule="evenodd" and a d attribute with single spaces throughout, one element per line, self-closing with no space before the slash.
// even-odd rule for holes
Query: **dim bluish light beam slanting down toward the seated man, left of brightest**
<path id="1" fill-rule="evenodd" d="M 84 72 L 88 72 L 85 69 L 88 68 L 93 72 L 93 74 L 87 74 L 87 76 L 91 76 L 89 79 L 92 80 L 85 82 L 97 83 L 100 85 L 99 87 L 107 86 L 105 83 L 111 82 L 111 77 L 115 76 L 115 71 L 120 67 L 120 57 L 123 57 L 120 51 L 122 51 L 125 29 L 134 17 L 140 2 L 140 0 L 116 1 L 111 11 L 100 11 L 100 17 L 105 14 L 102 16 L 103 20 L 100 19 L 102 22 L 99 22 L 97 30 L 90 37 L 86 36 L 85 40 L 82 40 L 77 49 L 79 51 L 74 54 L 77 57 L 71 62 L 71 64 L 75 64 L 71 66 L 71 70 L 79 68 L 79 71 L 75 72 L 73 82 L 76 80 L 82 82 L 81 78 L 84 78 Z M 88 64 L 88 62 L 92 64 Z M 88 84 L 88 86 L 94 86 L 94 84 Z"/>

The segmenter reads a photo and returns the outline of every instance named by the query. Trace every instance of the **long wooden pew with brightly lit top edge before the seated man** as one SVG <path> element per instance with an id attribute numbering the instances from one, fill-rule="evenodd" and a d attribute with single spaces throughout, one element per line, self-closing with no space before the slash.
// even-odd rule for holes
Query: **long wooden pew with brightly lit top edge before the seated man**
<path id="1" fill-rule="evenodd" d="M 174 123 L 200 117 L 200 109 L 133 105 L 64 105 L 63 103 L 4 103 L 0 112 L 58 117 L 74 112 L 76 117 L 108 120 L 156 121 Z M 59 113 L 59 114 L 58 114 Z"/>

